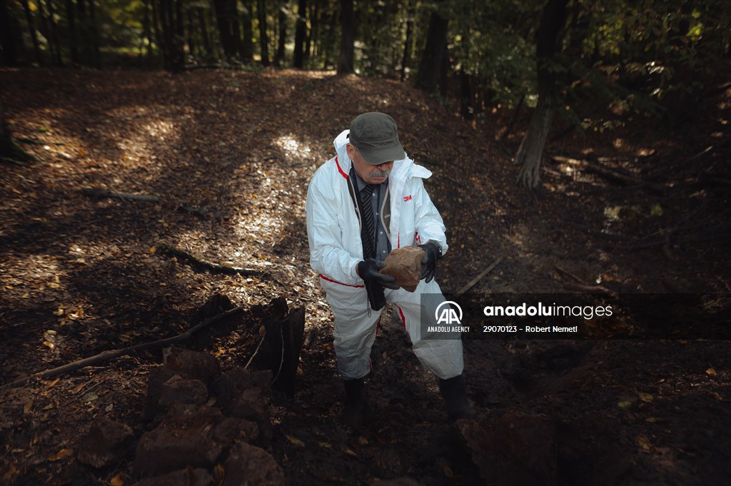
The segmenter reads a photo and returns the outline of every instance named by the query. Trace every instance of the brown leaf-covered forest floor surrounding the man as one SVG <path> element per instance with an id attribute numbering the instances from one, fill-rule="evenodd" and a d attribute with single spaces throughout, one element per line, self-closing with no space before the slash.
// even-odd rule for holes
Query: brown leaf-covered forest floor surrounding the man
<path id="1" fill-rule="evenodd" d="M 527 120 L 501 151 L 510 113 L 475 128 L 389 80 L 3 69 L 0 86 L 10 128 L 37 158 L 0 166 L 0 384 L 181 333 L 214 294 L 244 308 L 285 297 L 305 309 L 308 333 L 294 397 L 269 397 L 270 452 L 287 484 L 727 484 L 731 342 L 698 335 L 466 339 L 476 413 L 459 433 L 388 310 L 368 384 L 374 416 L 342 427 L 332 315 L 308 265 L 304 203 L 336 134 L 358 113 L 385 111 L 409 156 L 433 171 L 427 189 L 449 228 L 437 276 L 445 292 L 501 257 L 471 294 L 602 286 L 727 296 L 731 89 L 664 132 L 640 120 L 550 142 L 563 158 L 548 161 L 531 193 L 515 185 L 506 155 Z M 159 200 L 89 197 L 89 188 Z M 261 273 L 202 272 L 159 243 Z M 205 349 L 230 368 L 255 343 L 241 328 Z M 0 483 L 134 484 L 129 457 L 93 469 L 75 451 L 95 417 L 143 433 L 147 376 L 161 360 L 143 352 L 3 387 Z"/>

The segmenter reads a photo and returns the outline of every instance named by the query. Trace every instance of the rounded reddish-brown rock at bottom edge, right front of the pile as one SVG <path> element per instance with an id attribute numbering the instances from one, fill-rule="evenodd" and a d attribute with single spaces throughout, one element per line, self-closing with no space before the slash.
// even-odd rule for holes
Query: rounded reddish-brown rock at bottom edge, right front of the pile
<path id="1" fill-rule="evenodd" d="M 231 448 L 224 466 L 223 486 L 284 486 L 284 471 L 264 449 L 239 442 Z"/>

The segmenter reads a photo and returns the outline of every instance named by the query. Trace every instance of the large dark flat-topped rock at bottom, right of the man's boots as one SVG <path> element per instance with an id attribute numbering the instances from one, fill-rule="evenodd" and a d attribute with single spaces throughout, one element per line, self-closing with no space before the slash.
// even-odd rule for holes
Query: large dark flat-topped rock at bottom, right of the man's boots
<path id="1" fill-rule="evenodd" d="M 484 422 L 459 420 L 457 426 L 488 484 L 558 482 L 556 430 L 548 417 L 508 411 Z"/>

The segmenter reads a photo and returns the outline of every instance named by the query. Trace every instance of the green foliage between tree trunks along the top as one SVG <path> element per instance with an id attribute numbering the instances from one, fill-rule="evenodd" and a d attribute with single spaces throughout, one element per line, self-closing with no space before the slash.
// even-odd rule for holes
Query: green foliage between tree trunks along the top
<path id="1" fill-rule="evenodd" d="M 75 1 L 72 1 L 75 3 Z M 535 36 L 544 1 L 534 0 L 360 0 L 355 3 L 355 69 L 361 75 L 400 77 L 404 69 L 419 64 L 426 43 L 431 12 L 439 9 L 448 20 L 448 60 L 452 85 L 456 73 L 469 77 L 471 89 L 479 92 L 485 105 L 513 107 L 520 99 L 537 95 Z M 148 59 L 159 64 L 162 46 L 151 6 L 155 0 L 106 0 L 95 2 L 98 43 L 105 64 Z M 280 9 L 290 12 L 287 35 L 294 36 L 295 3 L 265 0 L 270 52 L 274 52 L 279 31 Z M 66 3 L 54 1 L 53 26 L 56 53 L 64 64 L 71 60 L 71 31 Z M 257 1 L 235 2 L 238 19 L 249 14 L 252 37 L 259 42 Z M 48 4 L 29 0 L 40 52 L 50 64 L 53 36 L 43 15 Z M 221 36 L 211 0 L 181 3 L 185 49 L 189 63 L 217 62 L 222 58 Z M 7 2 L 12 31 L 21 63 L 34 61 L 29 44 L 29 24 L 19 1 Z M 251 10 L 251 12 L 249 12 Z M 340 2 L 308 2 L 307 26 L 311 35 L 311 69 L 333 69 L 339 53 Z M 43 20 L 43 21 L 42 21 Z M 81 64 L 88 58 L 88 23 L 76 19 Z M 410 23 L 412 41 L 405 46 Z M 709 80 L 717 76 L 719 63 L 731 54 L 731 2 L 727 0 L 572 0 L 569 22 L 561 36 L 561 53 L 550 61 L 548 72 L 558 80 L 559 94 L 568 110 L 560 113 L 577 126 L 610 128 L 592 113 L 610 109 L 616 115 L 642 113 L 664 117 L 672 123 L 692 107 Z M 287 39 L 291 48 L 292 39 Z M 205 48 L 204 48 L 205 46 Z M 3 46 L 6 48 L 6 46 Z M 259 52 L 254 46 L 254 52 Z M 406 56 L 404 55 L 406 53 Z M 86 56 L 86 58 L 85 58 Z M 404 61 L 406 60 L 406 61 Z M 402 66 L 406 62 L 406 66 Z M 139 64 L 137 64 L 139 65 Z M 450 95 L 455 89 L 448 91 Z M 588 124 L 587 120 L 591 120 Z"/>

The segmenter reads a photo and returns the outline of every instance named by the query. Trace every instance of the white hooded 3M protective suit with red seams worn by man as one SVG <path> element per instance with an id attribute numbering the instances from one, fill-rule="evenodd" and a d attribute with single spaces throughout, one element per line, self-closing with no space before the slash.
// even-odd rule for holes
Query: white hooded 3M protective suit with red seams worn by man
<path id="1" fill-rule="evenodd" d="M 307 191 L 307 235 L 310 265 L 320 274 L 327 303 L 335 316 L 335 352 L 338 371 L 348 379 L 360 379 L 371 371 L 371 347 L 382 314 L 372 311 L 363 280 L 355 267 L 363 260 L 360 223 L 350 195 L 345 130 L 336 137 L 338 154 L 319 167 Z M 424 189 L 423 179 L 431 171 L 406 156 L 395 161 L 385 183 L 390 193 L 390 222 L 386 228 L 392 248 L 431 241 L 447 252 L 444 222 Z M 444 302 L 436 281 L 424 280 L 414 292 L 385 289 L 387 303 L 397 308 L 412 341 L 412 349 L 425 368 L 440 379 L 463 371 L 462 341 L 456 334 L 448 339 L 422 339 L 423 319 L 436 323 L 436 308 Z"/>

